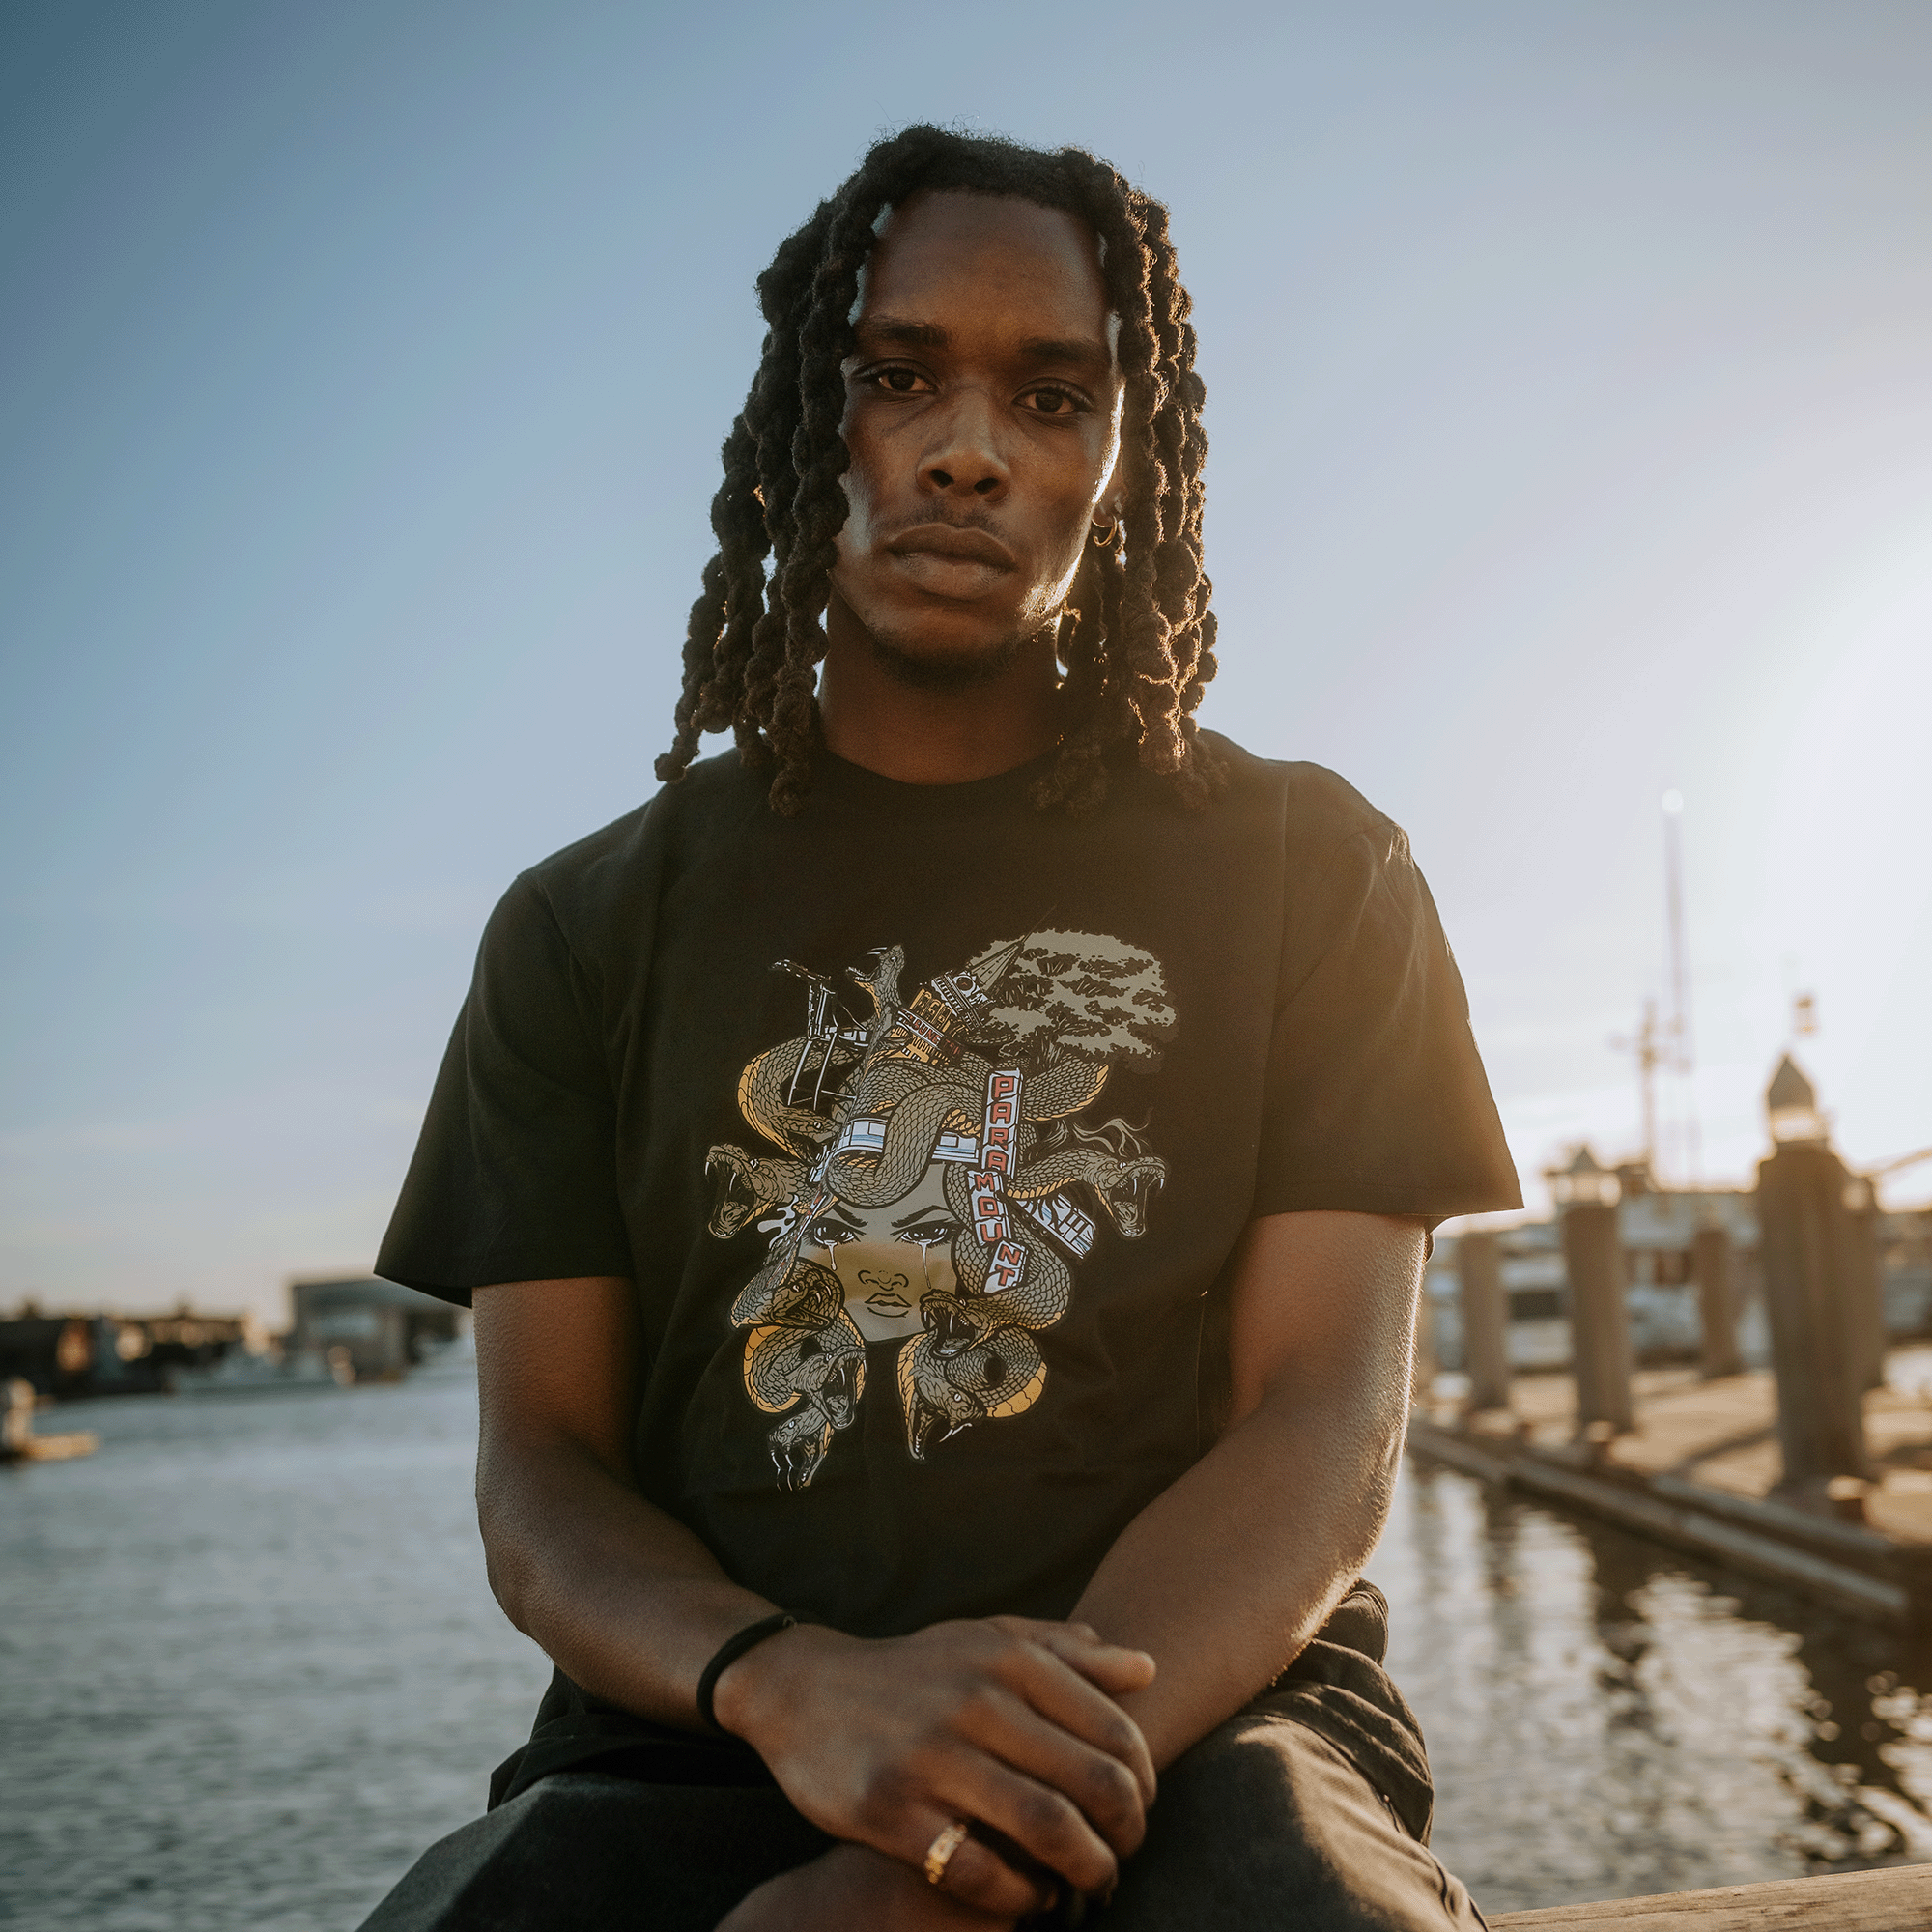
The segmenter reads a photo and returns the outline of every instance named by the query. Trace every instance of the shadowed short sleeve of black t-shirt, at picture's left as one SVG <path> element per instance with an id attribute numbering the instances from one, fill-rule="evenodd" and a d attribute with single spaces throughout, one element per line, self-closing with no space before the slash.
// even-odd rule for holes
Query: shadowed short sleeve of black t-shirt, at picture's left
<path id="1" fill-rule="evenodd" d="M 468 1302 L 632 1273 L 595 987 L 526 873 L 491 916 L 377 1273 Z"/>

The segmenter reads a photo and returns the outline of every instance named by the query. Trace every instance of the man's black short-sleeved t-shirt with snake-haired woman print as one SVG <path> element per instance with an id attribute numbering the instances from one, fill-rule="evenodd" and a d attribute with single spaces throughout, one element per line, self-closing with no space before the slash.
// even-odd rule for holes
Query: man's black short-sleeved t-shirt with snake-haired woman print
<path id="1" fill-rule="evenodd" d="M 773 1602 L 1065 1617 L 1211 1441 L 1252 1217 L 1519 1202 L 1405 835 L 1223 750 L 1082 819 L 696 765 L 497 908 L 379 1271 L 634 1279 L 638 1478 Z"/>

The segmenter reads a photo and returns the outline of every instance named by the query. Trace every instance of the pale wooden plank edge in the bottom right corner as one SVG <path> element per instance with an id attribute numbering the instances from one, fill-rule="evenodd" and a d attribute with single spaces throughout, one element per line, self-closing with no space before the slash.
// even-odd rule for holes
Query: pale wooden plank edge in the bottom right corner
<path id="1" fill-rule="evenodd" d="M 1492 1932 L 1926 1932 L 1932 1864 L 1490 1915 Z"/>

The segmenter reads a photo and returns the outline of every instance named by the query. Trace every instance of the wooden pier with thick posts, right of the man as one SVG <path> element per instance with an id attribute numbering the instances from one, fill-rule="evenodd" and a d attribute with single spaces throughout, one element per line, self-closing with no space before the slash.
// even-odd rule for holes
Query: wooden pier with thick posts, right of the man
<path id="1" fill-rule="evenodd" d="M 1464 1235 L 1426 1304 L 1432 1358 L 1455 1308 L 1464 1374 L 1418 1389 L 1408 1445 L 1932 1633 L 1932 1347 L 1905 1341 L 1932 1339 L 1932 1215 L 1878 1211 L 1789 1057 L 1766 1124 L 1748 1194 L 1582 1148 L 1548 1177 L 1553 1227 Z"/>

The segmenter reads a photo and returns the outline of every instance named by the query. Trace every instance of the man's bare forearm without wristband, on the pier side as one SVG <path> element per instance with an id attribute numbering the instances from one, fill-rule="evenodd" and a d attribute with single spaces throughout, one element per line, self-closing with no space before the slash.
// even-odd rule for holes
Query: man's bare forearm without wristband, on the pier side
<path id="1" fill-rule="evenodd" d="M 1121 1698 L 1157 1768 L 1236 1712 L 1321 1627 L 1389 1513 L 1403 1408 L 1277 1383 L 1157 1495 L 1074 1607 L 1159 1675 Z"/>

